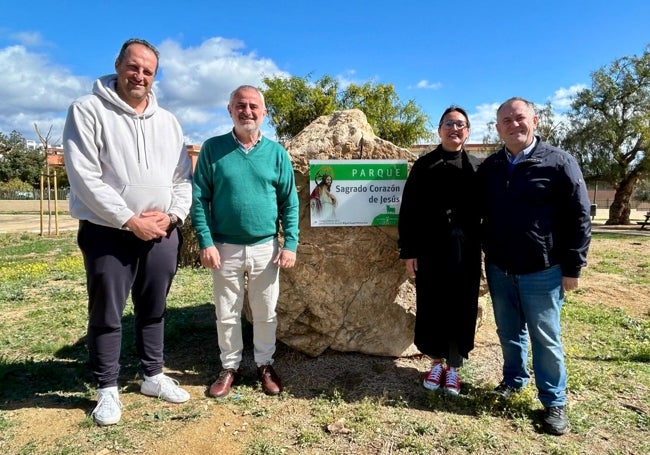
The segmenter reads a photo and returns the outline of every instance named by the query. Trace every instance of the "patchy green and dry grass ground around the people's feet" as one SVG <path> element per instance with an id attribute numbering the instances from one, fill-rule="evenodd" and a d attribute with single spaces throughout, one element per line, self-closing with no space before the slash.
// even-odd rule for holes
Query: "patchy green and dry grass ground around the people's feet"
<path id="1" fill-rule="evenodd" d="M 602 249 L 600 242 L 616 247 Z M 604 235 L 595 236 L 593 244 L 581 283 L 606 274 L 639 295 L 650 295 L 650 238 Z M 279 397 L 262 393 L 249 365 L 226 398 L 203 396 L 196 390 L 207 389 L 220 370 L 212 280 L 209 271 L 189 267 L 178 271 L 169 293 L 165 343 L 166 363 L 194 388 L 193 399 L 170 405 L 138 393 L 141 373 L 128 302 L 120 379 L 125 417 L 100 428 L 88 417 L 95 388 L 87 365 L 87 295 L 76 235 L 0 235 L 0 254 L 3 453 L 148 453 L 156 442 L 185 435 L 177 432 L 191 426 L 209 426 L 203 437 L 225 434 L 241 443 L 240 453 L 256 455 L 650 453 L 650 313 L 632 315 L 607 300 L 607 293 L 594 304 L 589 286 L 569 293 L 563 308 L 571 432 L 562 438 L 541 432 L 534 383 L 509 400 L 496 397 L 490 393 L 495 384 L 485 380 L 482 368 L 494 359 L 477 353 L 462 369 L 458 397 L 426 391 L 420 378 L 402 382 L 401 388 L 368 387 L 365 375 L 409 374 L 408 368 L 393 373 L 390 361 L 373 362 L 363 374 L 340 371 L 337 381 L 317 386 L 288 384 Z M 488 322 L 490 317 L 488 312 Z M 248 323 L 244 327 L 244 356 L 250 358 L 252 329 Z M 319 364 L 286 355 L 295 359 L 295 368 Z M 319 367 L 311 368 L 318 380 Z M 21 439 L 32 431 L 21 419 L 42 409 L 49 416 L 83 409 L 85 418 L 74 414 L 73 430 L 65 435 L 44 431 Z M 215 411 L 226 422 L 244 419 L 246 425 L 214 426 Z"/>

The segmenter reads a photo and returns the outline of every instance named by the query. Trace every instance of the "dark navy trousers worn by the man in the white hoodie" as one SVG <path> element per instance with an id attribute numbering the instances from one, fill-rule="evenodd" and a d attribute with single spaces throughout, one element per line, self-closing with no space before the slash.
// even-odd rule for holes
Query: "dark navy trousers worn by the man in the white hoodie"
<path id="1" fill-rule="evenodd" d="M 180 236 L 140 240 L 132 232 L 81 221 L 77 242 L 88 288 L 88 354 L 100 388 L 116 386 L 122 315 L 131 293 L 135 345 L 147 376 L 163 370 L 167 294 L 178 268 Z"/>

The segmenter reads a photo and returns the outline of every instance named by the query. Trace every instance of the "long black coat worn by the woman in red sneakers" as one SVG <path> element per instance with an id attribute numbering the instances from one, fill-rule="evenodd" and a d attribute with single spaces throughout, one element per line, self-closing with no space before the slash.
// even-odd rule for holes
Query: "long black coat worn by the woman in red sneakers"
<path id="1" fill-rule="evenodd" d="M 450 343 L 467 358 L 474 348 L 481 280 L 478 158 L 442 146 L 418 158 L 404 185 L 400 258 L 417 258 L 414 342 L 447 358 Z"/>

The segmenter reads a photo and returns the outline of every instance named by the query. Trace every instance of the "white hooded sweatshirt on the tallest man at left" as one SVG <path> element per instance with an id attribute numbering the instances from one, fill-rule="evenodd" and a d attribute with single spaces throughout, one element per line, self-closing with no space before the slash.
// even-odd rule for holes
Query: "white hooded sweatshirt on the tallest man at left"
<path id="1" fill-rule="evenodd" d="M 184 220 L 192 204 L 192 165 L 181 126 L 151 92 L 138 114 L 103 76 L 92 95 L 74 101 L 63 129 L 70 215 L 121 228 L 133 215 L 158 210 Z"/>

